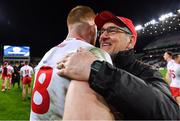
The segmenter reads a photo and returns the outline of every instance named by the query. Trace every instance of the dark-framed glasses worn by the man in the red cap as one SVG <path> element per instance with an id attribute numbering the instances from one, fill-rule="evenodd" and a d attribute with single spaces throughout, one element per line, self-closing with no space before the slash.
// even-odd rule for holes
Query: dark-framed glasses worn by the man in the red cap
<path id="1" fill-rule="evenodd" d="M 111 26 L 108 27 L 107 29 L 101 29 L 99 30 L 98 34 L 99 36 L 103 34 L 104 32 L 107 32 L 107 34 L 116 34 L 116 33 L 126 33 L 126 34 L 131 34 L 131 32 L 126 28 L 126 27 L 115 27 Z"/>

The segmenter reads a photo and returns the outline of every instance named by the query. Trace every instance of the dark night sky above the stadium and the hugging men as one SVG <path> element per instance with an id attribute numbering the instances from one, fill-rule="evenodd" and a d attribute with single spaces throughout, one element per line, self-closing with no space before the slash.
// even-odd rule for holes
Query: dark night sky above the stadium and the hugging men
<path id="1" fill-rule="evenodd" d="M 0 0 L 0 43 L 31 46 L 42 57 L 66 37 L 66 17 L 76 5 L 109 10 L 144 24 L 180 8 L 180 0 Z"/>

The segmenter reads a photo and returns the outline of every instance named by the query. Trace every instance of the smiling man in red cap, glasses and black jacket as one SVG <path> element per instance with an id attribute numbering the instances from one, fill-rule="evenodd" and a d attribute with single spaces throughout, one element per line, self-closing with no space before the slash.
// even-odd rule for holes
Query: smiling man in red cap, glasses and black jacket
<path id="1" fill-rule="evenodd" d="M 80 50 L 58 63 L 59 75 L 88 81 L 116 119 L 180 119 L 179 106 L 160 73 L 135 59 L 137 33 L 132 21 L 103 11 L 95 23 L 100 48 L 111 54 L 115 66 Z"/>

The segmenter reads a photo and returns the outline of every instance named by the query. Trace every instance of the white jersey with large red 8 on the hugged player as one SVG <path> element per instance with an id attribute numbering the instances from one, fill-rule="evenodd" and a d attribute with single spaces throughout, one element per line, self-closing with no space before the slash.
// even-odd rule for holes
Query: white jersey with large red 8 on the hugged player
<path id="1" fill-rule="evenodd" d="M 70 80 L 57 75 L 57 62 L 67 54 L 77 52 L 80 47 L 96 53 L 102 60 L 112 64 L 109 54 L 75 38 L 64 40 L 53 47 L 35 68 L 30 120 L 61 120 L 64 112 L 65 95 Z"/>

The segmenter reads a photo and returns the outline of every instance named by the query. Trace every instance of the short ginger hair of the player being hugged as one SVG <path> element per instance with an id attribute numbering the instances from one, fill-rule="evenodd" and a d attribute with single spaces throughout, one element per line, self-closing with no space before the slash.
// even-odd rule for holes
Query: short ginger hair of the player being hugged
<path id="1" fill-rule="evenodd" d="M 88 7 L 88 6 L 76 6 L 73 8 L 67 17 L 67 24 L 75 24 L 75 23 L 83 23 L 88 20 L 94 20 L 95 18 L 95 13 L 94 11 Z"/>

